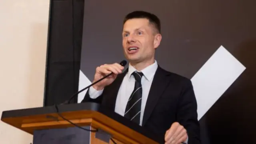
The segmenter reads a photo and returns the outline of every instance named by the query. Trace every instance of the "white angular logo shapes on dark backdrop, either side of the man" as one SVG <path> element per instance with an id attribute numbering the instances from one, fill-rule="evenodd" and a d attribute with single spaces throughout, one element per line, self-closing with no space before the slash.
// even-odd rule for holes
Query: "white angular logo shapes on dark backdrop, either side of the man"
<path id="1" fill-rule="evenodd" d="M 204 116 L 245 69 L 223 46 L 214 52 L 191 79 L 198 104 L 198 120 Z M 80 70 L 78 89 L 82 90 L 90 84 L 92 82 Z M 78 103 L 83 100 L 86 92 L 87 90 L 84 90 L 78 94 Z"/>

